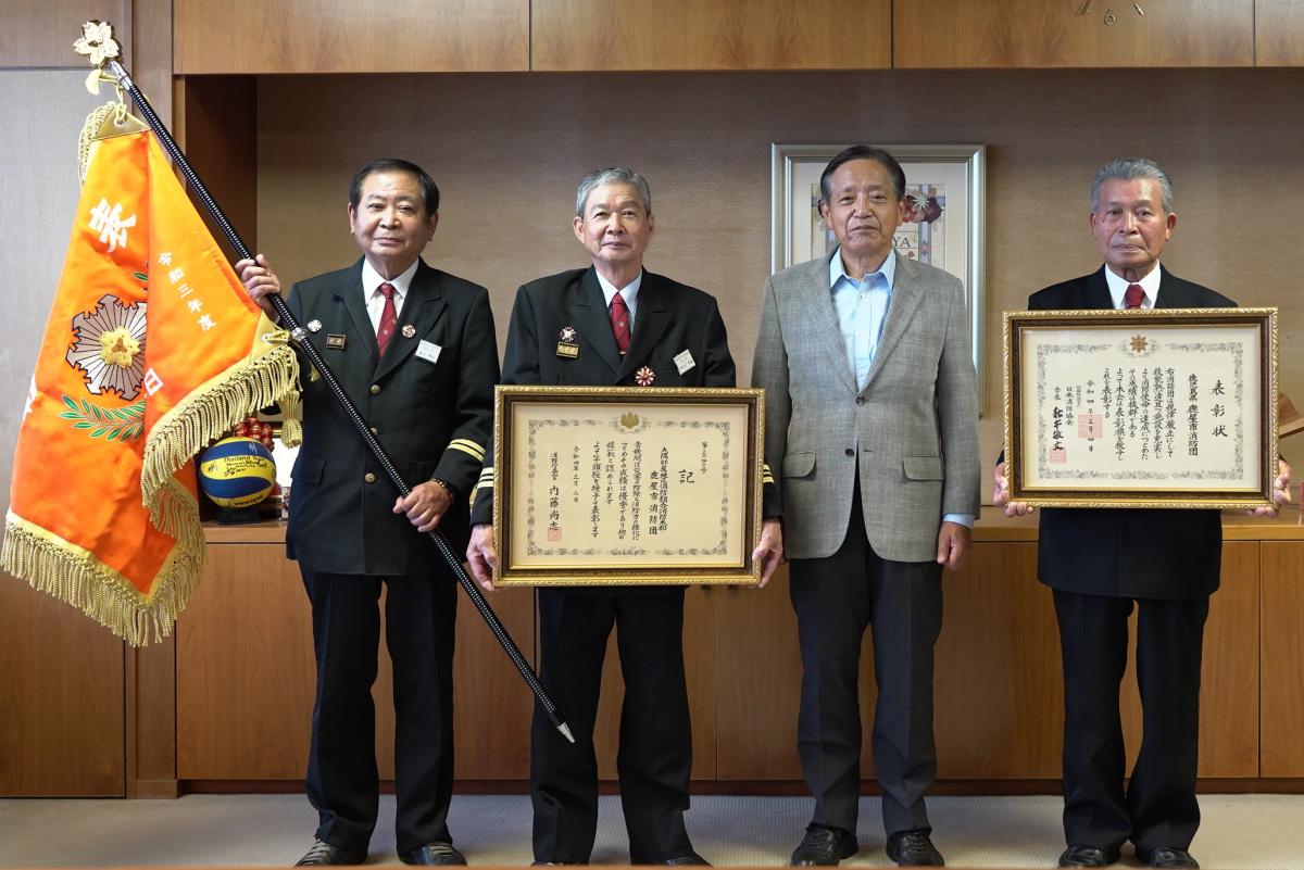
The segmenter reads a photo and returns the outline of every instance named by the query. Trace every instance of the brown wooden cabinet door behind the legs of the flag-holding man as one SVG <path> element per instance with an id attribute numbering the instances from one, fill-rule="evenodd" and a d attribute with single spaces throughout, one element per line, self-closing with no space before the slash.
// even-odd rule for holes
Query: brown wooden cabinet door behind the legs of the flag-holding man
<path id="1" fill-rule="evenodd" d="M 455 776 L 526 779 L 532 695 L 475 607 L 458 596 Z M 533 596 L 505 591 L 493 606 L 532 659 Z M 210 543 L 203 581 L 176 637 L 177 778 L 303 779 L 316 685 L 312 611 L 284 546 Z M 393 779 L 393 668 L 383 633 L 378 655 L 377 766 Z"/>

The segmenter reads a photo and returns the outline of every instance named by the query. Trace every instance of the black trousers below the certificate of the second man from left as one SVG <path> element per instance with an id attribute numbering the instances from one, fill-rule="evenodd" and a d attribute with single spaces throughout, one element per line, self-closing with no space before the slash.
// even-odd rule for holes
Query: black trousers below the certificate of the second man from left
<path id="1" fill-rule="evenodd" d="M 615 766 L 632 863 L 692 852 L 683 827 L 692 768 L 683 676 L 683 589 L 640 593 L 539 590 L 540 679 L 575 735 L 571 745 L 542 707 L 531 729 L 535 860 L 587 863 L 597 830 L 593 723 L 608 636 L 625 676 Z"/>

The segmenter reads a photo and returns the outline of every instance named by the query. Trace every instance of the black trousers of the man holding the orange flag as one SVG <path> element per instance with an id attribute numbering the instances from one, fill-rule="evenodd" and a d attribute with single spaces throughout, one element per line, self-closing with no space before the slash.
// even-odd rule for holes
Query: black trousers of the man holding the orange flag
<path id="1" fill-rule="evenodd" d="M 382 580 L 303 574 L 317 652 L 308 800 L 321 818 L 318 839 L 365 849 L 379 800 L 372 684 Z M 394 663 L 394 827 L 399 850 L 408 850 L 450 840 L 456 583 L 447 573 L 383 582 L 386 642 Z"/>

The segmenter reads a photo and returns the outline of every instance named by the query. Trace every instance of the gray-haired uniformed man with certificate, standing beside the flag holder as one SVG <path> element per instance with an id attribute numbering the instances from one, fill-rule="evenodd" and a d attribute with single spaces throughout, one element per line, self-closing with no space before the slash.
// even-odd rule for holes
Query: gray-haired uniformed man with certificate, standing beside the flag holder
<path id="1" fill-rule="evenodd" d="M 516 292 L 505 384 L 733 387 L 725 324 L 715 298 L 643 268 L 652 198 L 636 172 L 608 168 L 579 184 L 575 237 L 592 266 Z M 493 589 L 493 468 L 480 478 L 467 559 Z M 759 552 L 759 551 L 758 551 Z M 778 561 L 762 554 L 764 577 Z M 587 863 L 597 824 L 593 722 L 602 659 L 618 626 L 625 707 L 617 767 L 632 863 L 705 861 L 683 824 L 692 738 L 683 673 L 683 587 L 539 590 L 540 676 L 565 712 L 575 745 L 536 706 L 531 732 L 535 860 Z"/>

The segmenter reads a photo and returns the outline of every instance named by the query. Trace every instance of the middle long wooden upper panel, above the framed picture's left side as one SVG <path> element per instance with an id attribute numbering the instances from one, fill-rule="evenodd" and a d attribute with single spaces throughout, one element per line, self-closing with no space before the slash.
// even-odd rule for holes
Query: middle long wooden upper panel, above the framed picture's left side
<path id="1" fill-rule="evenodd" d="M 876 69 L 889 0 L 533 0 L 531 69 Z"/>

